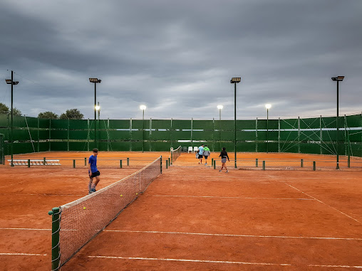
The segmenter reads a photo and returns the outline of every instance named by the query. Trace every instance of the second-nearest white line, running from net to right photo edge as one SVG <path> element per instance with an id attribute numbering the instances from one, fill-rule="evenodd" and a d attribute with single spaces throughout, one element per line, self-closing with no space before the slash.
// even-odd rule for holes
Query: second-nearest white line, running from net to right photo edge
<path id="1" fill-rule="evenodd" d="M 277 235 L 240 235 L 240 234 L 221 234 L 221 233 L 178 233 L 170 231 L 153 230 L 103 230 L 114 233 L 166 233 L 166 234 L 185 234 L 185 235 L 209 235 L 209 236 L 228 236 L 228 237 L 252 237 L 252 238 L 291 238 L 291 239 L 324 239 L 324 240 L 362 240 L 362 238 L 336 238 L 336 237 L 304 237 L 304 236 L 277 236 Z"/>

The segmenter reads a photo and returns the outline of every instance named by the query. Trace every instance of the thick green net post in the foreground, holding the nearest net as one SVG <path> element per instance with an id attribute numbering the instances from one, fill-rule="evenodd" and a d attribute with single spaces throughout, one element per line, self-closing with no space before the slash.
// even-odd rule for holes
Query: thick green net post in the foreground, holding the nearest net
<path id="1" fill-rule="evenodd" d="M 55 207 L 48 212 L 48 215 L 51 216 L 51 270 L 58 271 L 61 259 L 59 250 L 60 209 Z"/>

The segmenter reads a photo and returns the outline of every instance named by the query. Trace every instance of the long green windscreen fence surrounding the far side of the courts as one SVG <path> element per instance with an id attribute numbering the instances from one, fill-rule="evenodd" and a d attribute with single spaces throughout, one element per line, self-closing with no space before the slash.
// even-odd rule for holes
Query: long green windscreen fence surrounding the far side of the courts
<path id="1" fill-rule="evenodd" d="M 9 115 L 0 115 L 4 154 Z M 38 119 L 14 116 L 14 154 L 43 151 L 170 151 L 207 144 L 212 152 L 336 154 L 336 117 L 294 119 Z M 97 139 L 95 142 L 95 138 Z M 338 154 L 362 157 L 362 115 L 338 118 Z"/>

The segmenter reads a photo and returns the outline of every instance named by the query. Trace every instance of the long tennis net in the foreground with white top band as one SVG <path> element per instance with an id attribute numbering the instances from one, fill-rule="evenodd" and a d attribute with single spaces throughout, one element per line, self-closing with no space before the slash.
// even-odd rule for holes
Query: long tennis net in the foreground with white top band
<path id="1" fill-rule="evenodd" d="M 145 191 L 162 173 L 161 166 L 162 156 L 115 184 L 61 206 L 60 225 L 57 230 L 59 263 L 53 267 L 53 270 L 58 270 L 70 260 L 86 243 L 117 218 L 124 208 L 135 201 L 138 193 Z M 57 260 L 54 255 L 52 258 Z"/>

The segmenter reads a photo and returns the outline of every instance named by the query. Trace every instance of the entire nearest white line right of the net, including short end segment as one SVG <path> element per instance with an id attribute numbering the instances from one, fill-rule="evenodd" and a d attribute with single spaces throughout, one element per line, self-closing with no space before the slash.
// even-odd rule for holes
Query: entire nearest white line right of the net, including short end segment
<path id="1" fill-rule="evenodd" d="M 280 265 L 280 266 L 303 266 L 293 265 L 289 263 L 272 263 L 272 262 L 233 262 L 222 260 L 191 260 L 191 259 L 170 259 L 170 258 L 153 258 L 153 257 L 121 257 L 121 256 L 88 256 L 93 258 L 103 259 L 120 259 L 120 260 L 161 260 L 161 261 L 173 261 L 173 262 L 209 262 L 209 263 L 227 263 L 237 265 Z M 307 265 L 309 267 L 344 267 L 344 268 L 362 268 L 358 265 Z"/>

